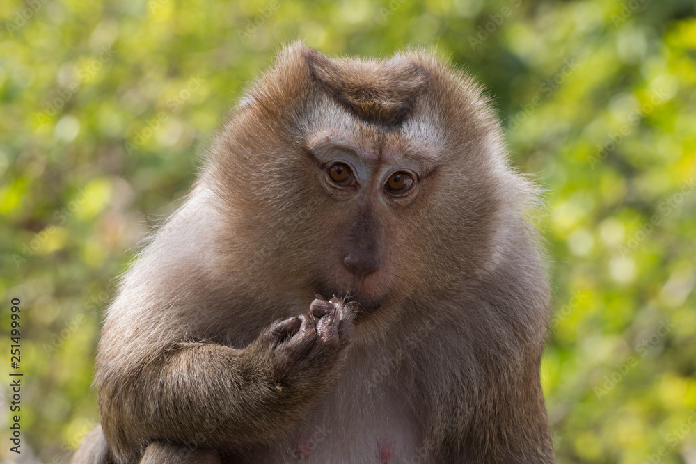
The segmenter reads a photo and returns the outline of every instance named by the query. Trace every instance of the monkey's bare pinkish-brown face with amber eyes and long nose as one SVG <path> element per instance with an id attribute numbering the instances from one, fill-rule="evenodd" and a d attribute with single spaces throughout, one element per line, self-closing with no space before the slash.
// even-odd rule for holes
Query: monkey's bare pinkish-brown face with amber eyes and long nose
<path id="1" fill-rule="evenodd" d="M 325 254 L 315 291 L 376 310 L 409 266 L 409 214 L 434 173 L 434 160 L 400 136 L 362 125 L 319 131 L 304 152 L 322 198 L 317 212 L 330 225 L 319 239 Z"/>

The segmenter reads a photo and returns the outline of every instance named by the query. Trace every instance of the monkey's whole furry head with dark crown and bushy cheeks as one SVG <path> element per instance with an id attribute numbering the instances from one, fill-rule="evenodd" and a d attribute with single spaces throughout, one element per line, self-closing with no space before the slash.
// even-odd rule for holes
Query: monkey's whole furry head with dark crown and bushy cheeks
<path id="1" fill-rule="evenodd" d="M 476 285 L 524 194 L 469 77 L 424 52 L 334 60 L 301 43 L 232 111 L 201 182 L 250 292 L 335 294 L 358 321 Z"/>

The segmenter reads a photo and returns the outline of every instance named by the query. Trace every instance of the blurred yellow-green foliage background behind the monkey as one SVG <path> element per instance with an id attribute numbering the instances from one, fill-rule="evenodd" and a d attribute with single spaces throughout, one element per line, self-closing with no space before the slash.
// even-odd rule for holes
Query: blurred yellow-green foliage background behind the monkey
<path id="1" fill-rule="evenodd" d="M 0 346 L 9 361 L 9 302 L 22 298 L 24 462 L 29 448 L 67 462 L 97 422 L 114 278 L 185 195 L 241 90 L 301 38 L 329 55 L 436 47 L 489 88 L 514 163 L 547 192 L 556 315 L 542 371 L 557 460 L 696 463 L 695 10 L 3 1 Z"/>

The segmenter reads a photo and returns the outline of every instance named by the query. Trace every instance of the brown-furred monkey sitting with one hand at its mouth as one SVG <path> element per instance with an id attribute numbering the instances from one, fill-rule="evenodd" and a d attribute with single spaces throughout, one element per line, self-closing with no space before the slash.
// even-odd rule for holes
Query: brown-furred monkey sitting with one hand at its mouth
<path id="1" fill-rule="evenodd" d="M 553 463 L 534 183 L 432 51 L 278 52 L 109 305 L 73 463 Z"/>

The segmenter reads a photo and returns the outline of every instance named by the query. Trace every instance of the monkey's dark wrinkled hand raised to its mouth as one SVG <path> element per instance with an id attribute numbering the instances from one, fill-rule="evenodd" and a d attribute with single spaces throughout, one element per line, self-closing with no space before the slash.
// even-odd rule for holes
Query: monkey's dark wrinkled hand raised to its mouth
<path id="1" fill-rule="evenodd" d="M 347 354 L 353 318 L 354 311 L 342 301 L 317 295 L 309 314 L 276 322 L 266 330 L 260 342 L 271 349 L 276 388 L 287 385 L 319 394 L 317 388 L 332 383 Z M 250 354 L 257 355 L 255 351 Z"/>

